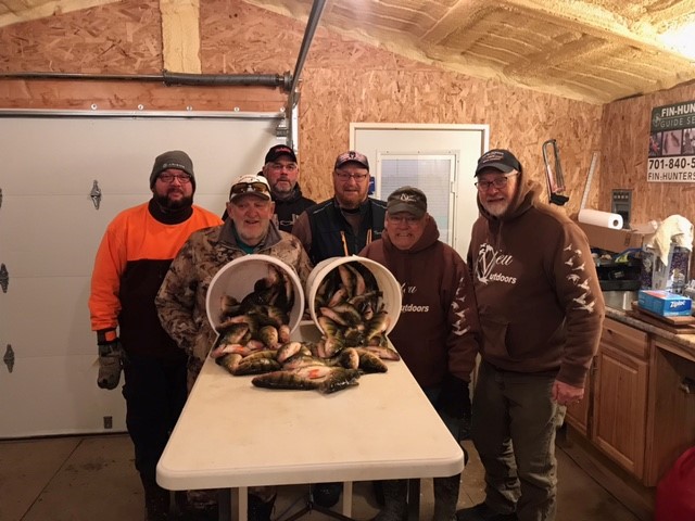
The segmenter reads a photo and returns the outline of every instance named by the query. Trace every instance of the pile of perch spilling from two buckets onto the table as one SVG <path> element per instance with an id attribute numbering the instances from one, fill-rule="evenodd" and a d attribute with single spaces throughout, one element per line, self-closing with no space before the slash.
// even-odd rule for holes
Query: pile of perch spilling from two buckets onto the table
<path id="1" fill-rule="evenodd" d="M 352 266 L 354 264 L 355 266 Z M 361 374 L 387 372 L 399 360 L 389 347 L 389 317 L 374 275 L 345 263 L 321 281 L 315 306 L 324 335 L 290 341 L 291 281 L 275 266 L 240 303 L 222 298 L 219 336 L 211 356 L 235 376 L 255 376 L 258 387 L 333 393 L 357 384 Z"/>

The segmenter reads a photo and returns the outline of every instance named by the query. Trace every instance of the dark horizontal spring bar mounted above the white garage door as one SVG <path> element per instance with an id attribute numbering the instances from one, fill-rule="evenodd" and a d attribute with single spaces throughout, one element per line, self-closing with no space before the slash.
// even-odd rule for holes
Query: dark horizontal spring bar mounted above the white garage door
<path id="1" fill-rule="evenodd" d="M 160 81 L 166 86 L 188 85 L 198 87 L 215 86 L 260 86 L 280 87 L 288 92 L 292 76 L 285 74 L 83 74 L 83 73 L 0 73 L 0 79 L 65 79 L 90 81 Z"/>

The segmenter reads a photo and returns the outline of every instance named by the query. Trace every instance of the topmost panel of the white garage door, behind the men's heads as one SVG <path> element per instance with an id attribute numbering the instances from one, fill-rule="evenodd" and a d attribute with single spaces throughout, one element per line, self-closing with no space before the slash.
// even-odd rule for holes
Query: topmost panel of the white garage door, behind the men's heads
<path id="1" fill-rule="evenodd" d="M 204 134 L 192 138 L 194 130 L 181 131 L 194 125 L 204 125 Z M 231 179 L 261 169 L 277 142 L 276 127 L 277 119 L 269 118 L 12 118 L 0 125 L 0 142 L 35 144 L 29 153 L 3 155 L 3 192 L 78 195 L 89 193 L 97 179 L 102 190 L 147 196 L 154 157 L 177 149 L 191 156 L 201 193 L 229 191 Z"/>

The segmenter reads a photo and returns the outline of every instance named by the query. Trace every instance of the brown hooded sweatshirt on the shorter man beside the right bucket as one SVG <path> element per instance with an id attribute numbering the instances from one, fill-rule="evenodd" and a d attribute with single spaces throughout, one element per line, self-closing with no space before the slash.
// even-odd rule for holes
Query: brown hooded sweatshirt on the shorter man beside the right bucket
<path id="1" fill-rule="evenodd" d="M 468 267 L 439 240 L 428 214 L 422 237 L 406 251 L 389 233 L 361 253 L 384 265 L 401 284 L 401 316 L 389 340 L 422 387 L 441 385 L 447 373 L 469 381 L 479 346 L 476 301 Z"/>

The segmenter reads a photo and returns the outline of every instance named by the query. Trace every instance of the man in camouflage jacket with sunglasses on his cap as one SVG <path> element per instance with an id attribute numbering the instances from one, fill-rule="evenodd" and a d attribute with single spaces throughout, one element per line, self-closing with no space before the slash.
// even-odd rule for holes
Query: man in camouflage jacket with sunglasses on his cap
<path id="1" fill-rule="evenodd" d="M 191 234 L 164 278 L 156 307 L 164 329 L 188 354 L 189 390 L 215 341 L 205 302 L 210 282 L 223 266 L 243 255 L 271 255 L 294 268 L 302 285 L 306 284 L 312 270 L 306 252 L 298 238 L 278 229 L 273 221 L 274 209 L 265 177 L 239 177 L 229 191 L 229 219 Z M 249 520 L 269 521 L 275 491 L 265 487 L 250 492 Z M 189 499 L 198 510 L 217 519 L 216 494 L 190 491 Z"/>

